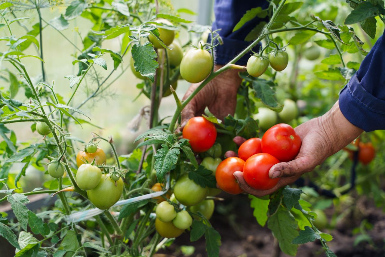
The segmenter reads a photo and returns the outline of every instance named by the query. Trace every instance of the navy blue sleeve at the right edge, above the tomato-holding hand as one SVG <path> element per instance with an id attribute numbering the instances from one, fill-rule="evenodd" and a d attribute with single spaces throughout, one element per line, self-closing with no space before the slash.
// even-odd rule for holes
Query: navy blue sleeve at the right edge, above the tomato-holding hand
<path id="1" fill-rule="evenodd" d="M 360 69 L 341 90 L 339 105 L 350 123 L 365 131 L 385 129 L 385 38 L 380 37 Z"/>

